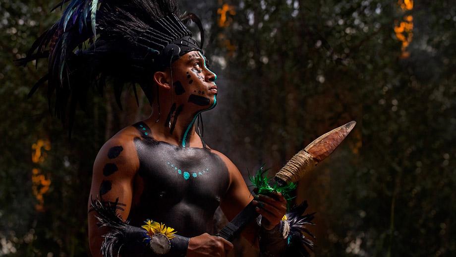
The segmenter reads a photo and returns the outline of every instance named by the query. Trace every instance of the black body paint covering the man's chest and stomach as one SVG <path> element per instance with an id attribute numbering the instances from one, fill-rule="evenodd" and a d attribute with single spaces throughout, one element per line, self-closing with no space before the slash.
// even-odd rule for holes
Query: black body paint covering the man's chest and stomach
<path id="1" fill-rule="evenodd" d="M 142 184 L 143 191 L 135 192 L 139 201 L 131 208 L 130 225 L 152 219 L 185 237 L 213 234 L 214 212 L 229 185 L 225 163 L 208 148 L 157 141 L 144 123 L 133 126 L 141 132 L 134 139 L 140 166 L 135 188 Z"/>

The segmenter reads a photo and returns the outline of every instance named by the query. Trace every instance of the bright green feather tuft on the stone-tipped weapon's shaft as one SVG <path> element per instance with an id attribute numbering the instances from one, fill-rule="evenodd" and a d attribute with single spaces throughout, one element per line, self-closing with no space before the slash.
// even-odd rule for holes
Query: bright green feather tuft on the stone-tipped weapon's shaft
<path id="1" fill-rule="evenodd" d="M 276 181 L 271 182 L 271 178 L 266 177 L 266 172 L 269 169 L 265 170 L 263 168 L 264 165 L 257 170 L 254 176 L 249 175 L 249 179 L 250 182 L 252 182 L 252 185 L 258 189 L 259 194 L 267 195 L 273 192 L 282 193 L 286 199 L 287 205 L 289 205 L 291 199 L 294 198 L 294 196 L 291 196 L 291 193 L 296 189 L 296 184 L 289 183 L 287 185 L 280 185 Z"/>

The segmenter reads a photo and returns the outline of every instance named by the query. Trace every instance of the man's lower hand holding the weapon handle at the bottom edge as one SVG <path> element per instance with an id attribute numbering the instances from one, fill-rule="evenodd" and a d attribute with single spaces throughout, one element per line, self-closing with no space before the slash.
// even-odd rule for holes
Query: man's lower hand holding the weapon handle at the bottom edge
<path id="1" fill-rule="evenodd" d="M 215 256 L 225 257 L 233 249 L 233 244 L 222 237 L 211 236 L 204 233 L 190 238 L 187 248 L 187 257 Z"/>

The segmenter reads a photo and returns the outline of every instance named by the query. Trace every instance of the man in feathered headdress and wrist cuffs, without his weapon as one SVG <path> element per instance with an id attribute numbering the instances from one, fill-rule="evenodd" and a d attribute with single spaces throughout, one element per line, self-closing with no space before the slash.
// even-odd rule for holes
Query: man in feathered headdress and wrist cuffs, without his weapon
<path id="1" fill-rule="evenodd" d="M 218 87 L 202 54 L 204 34 L 200 47 L 178 13 L 170 0 L 72 0 L 19 61 L 48 58 L 49 73 L 30 94 L 48 80 L 50 104 L 55 92 L 56 114 L 70 128 L 89 87 L 102 89 L 106 79 L 118 103 L 122 86 L 137 83 L 154 107 L 148 119 L 108 140 L 96 158 L 88 214 L 93 256 L 100 249 L 105 256 L 225 256 L 233 246 L 211 235 L 214 212 L 221 206 L 232 219 L 252 200 L 235 165 L 195 129 L 201 112 L 216 106 Z M 201 29 L 194 15 L 182 19 Z M 252 222 L 244 236 L 259 236 L 266 255 L 284 253 L 284 197 L 258 195 L 253 204 L 261 228 Z M 104 208 L 115 211 L 111 221 Z M 99 228 L 97 219 L 114 225 Z"/>

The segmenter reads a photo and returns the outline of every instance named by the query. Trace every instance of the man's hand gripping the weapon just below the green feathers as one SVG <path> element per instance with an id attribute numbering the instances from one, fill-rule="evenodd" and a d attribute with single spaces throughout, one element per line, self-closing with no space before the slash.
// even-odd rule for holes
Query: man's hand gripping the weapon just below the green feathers
<path id="1" fill-rule="evenodd" d="M 261 225 L 267 230 L 275 228 L 286 213 L 285 197 L 278 192 L 269 195 L 257 194 L 253 204 L 257 206 L 256 211 L 263 216 Z"/>

